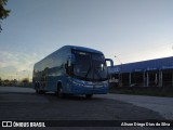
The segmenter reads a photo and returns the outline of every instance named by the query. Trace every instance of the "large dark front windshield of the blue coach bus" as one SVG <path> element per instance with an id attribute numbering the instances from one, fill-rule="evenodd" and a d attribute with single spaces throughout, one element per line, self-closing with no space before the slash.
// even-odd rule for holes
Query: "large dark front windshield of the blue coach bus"
<path id="1" fill-rule="evenodd" d="M 74 50 L 74 76 L 89 81 L 107 80 L 107 66 L 103 54 Z"/>

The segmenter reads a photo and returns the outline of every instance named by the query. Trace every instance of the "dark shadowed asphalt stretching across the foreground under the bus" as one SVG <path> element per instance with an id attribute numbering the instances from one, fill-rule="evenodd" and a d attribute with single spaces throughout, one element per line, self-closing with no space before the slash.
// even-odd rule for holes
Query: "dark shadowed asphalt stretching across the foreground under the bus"
<path id="1" fill-rule="evenodd" d="M 36 94 L 29 88 L 0 87 L 1 120 L 148 120 L 165 119 L 159 113 L 119 99 L 95 95 L 57 98 Z M 110 96 L 109 94 L 107 96 Z M 65 129 L 65 128 L 63 128 Z M 69 129 L 69 128 L 68 128 Z M 72 128 L 75 129 L 75 128 Z M 84 129 L 84 128 L 80 128 Z M 88 128 L 92 129 L 92 128 Z M 98 129 L 98 128 L 97 128 Z M 105 128 L 110 129 L 110 128 Z M 119 128 L 122 129 L 122 128 Z M 125 128 L 134 129 L 134 128 Z M 138 128 L 137 128 L 138 129 Z M 147 128 L 152 129 L 152 128 Z"/>

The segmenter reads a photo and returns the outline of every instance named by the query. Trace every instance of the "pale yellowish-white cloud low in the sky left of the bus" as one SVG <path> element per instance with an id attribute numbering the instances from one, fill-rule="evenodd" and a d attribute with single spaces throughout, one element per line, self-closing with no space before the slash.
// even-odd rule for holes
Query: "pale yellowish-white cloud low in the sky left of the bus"
<path id="1" fill-rule="evenodd" d="M 32 67 L 42 56 L 36 53 L 0 51 L 0 77 L 24 77 L 31 78 Z M 25 70 L 25 73 L 24 73 Z"/>

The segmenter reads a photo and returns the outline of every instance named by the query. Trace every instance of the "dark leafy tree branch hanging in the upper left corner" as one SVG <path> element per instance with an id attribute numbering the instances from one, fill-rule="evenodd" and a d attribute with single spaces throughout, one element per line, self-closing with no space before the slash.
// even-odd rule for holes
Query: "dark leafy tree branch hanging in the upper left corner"
<path id="1" fill-rule="evenodd" d="M 0 0 L 0 32 L 2 30 L 1 21 L 9 16 L 10 10 L 4 9 L 6 5 L 8 0 Z"/>

